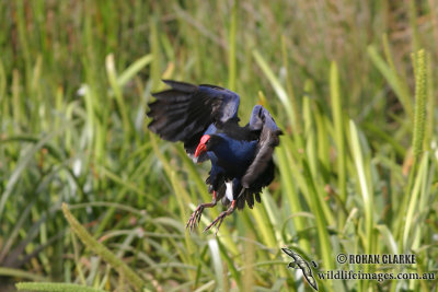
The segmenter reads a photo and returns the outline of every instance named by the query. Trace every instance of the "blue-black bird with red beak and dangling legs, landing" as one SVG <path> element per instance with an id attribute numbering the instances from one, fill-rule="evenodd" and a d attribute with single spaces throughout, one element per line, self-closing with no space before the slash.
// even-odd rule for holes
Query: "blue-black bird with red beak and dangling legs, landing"
<path id="1" fill-rule="evenodd" d="M 192 231 L 199 224 L 205 208 L 219 200 L 226 207 L 204 231 L 217 226 L 237 208 L 252 209 L 254 199 L 261 202 L 262 188 L 274 179 L 273 152 L 279 144 L 281 130 L 262 105 L 253 108 L 249 124 L 239 126 L 240 97 L 216 85 L 194 85 L 163 80 L 171 89 L 152 94 L 149 103 L 148 128 L 162 139 L 182 141 L 195 162 L 211 162 L 206 179 L 211 202 L 200 203 L 186 224 Z"/>

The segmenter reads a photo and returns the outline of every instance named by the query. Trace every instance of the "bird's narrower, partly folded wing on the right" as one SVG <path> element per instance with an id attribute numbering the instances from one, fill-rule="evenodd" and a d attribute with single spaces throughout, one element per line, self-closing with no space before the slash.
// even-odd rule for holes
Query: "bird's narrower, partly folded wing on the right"
<path id="1" fill-rule="evenodd" d="M 261 188 L 269 185 L 274 178 L 273 152 L 279 144 L 281 130 L 269 112 L 261 105 L 254 106 L 247 127 L 252 131 L 260 131 L 260 138 L 254 161 L 242 177 L 242 186 L 254 187 L 254 183 L 258 182 L 260 186 L 255 187 Z"/>

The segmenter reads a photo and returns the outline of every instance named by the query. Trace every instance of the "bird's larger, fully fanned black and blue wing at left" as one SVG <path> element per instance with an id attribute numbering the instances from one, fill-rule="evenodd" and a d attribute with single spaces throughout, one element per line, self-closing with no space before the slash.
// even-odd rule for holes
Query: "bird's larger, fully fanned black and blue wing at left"
<path id="1" fill-rule="evenodd" d="M 149 129 L 168 141 L 182 141 L 188 155 L 193 156 L 200 137 L 208 129 L 230 119 L 238 119 L 239 95 L 215 85 L 194 85 L 163 80 L 170 90 L 152 94 L 157 98 L 149 104 Z M 206 160 L 200 156 L 198 162 Z"/>

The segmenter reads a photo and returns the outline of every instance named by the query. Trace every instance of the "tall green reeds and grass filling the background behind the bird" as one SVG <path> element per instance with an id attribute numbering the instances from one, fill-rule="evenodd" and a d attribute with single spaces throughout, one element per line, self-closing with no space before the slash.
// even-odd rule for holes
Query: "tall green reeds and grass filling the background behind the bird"
<path id="1" fill-rule="evenodd" d="M 1 1 L 0 290 L 312 291 L 280 247 L 314 272 L 437 276 L 437 45 L 435 0 Z M 161 79 L 227 86 L 285 131 L 262 203 L 217 237 L 185 230 L 209 165 L 147 129 Z"/>

